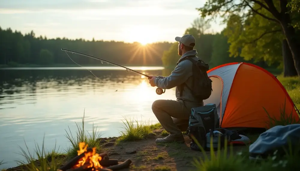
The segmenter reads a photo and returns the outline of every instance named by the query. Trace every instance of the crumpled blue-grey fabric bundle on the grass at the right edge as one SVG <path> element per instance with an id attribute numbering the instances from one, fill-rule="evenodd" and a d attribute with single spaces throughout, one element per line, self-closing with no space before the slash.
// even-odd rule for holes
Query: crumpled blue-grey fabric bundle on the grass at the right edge
<path id="1" fill-rule="evenodd" d="M 277 125 L 259 135 L 257 140 L 249 146 L 250 156 L 265 155 L 275 149 L 300 143 L 300 124 Z"/>

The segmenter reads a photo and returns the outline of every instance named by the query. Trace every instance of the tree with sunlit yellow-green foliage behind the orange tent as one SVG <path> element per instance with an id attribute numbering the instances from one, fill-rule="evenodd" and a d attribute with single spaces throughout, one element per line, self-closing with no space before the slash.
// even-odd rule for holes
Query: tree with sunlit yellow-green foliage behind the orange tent
<path id="1" fill-rule="evenodd" d="M 265 61 L 269 66 L 280 64 L 284 76 L 298 75 L 289 46 L 285 46 L 286 40 L 280 31 L 278 25 L 272 25 L 259 15 L 250 16 L 243 25 L 240 16 L 232 15 L 224 34 L 230 43 L 230 56 Z"/>

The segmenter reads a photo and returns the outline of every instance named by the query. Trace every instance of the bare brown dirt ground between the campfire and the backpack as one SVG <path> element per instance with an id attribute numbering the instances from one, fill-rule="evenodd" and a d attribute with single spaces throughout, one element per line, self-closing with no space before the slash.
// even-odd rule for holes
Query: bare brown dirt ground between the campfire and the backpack
<path id="1" fill-rule="evenodd" d="M 131 165 L 121 171 L 133 170 L 165 170 L 165 171 L 189 171 L 196 169 L 192 161 L 194 158 L 203 157 L 202 152 L 190 149 L 191 140 L 184 135 L 185 143 L 156 144 L 156 138 L 162 138 L 162 130 L 155 130 L 155 134 L 146 140 L 134 142 L 116 143 L 116 137 L 102 140 L 103 152 L 107 152 L 109 158 L 118 159 L 119 162 L 130 159 Z M 234 152 L 245 150 L 247 146 L 235 146 Z M 209 156 L 210 152 L 206 152 Z M 63 164 L 66 161 L 63 161 Z M 24 168 L 24 167 L 23 167 Z M 21 171 L 22 166 L 10 168 L 6 171 Z"/>

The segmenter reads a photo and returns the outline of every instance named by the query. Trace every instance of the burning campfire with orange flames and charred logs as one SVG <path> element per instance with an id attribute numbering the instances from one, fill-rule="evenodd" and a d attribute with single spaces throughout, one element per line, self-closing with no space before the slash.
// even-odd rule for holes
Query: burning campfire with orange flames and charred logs
<path id="1" fill-rule="evenodd" d="M 128 168 L 131 160 L 119 162 L 110 159 L 106 152 L 98 154 L 96 148 L 90 148 L 84 142 L 79 143 L 78 155 L 59 168 L 58 171 L 114 171 Z"/>

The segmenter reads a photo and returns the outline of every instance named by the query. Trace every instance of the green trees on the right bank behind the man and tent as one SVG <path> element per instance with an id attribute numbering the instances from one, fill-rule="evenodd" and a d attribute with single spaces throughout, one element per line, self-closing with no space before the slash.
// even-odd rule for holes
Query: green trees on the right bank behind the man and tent
<path id="1" fill-rule="evenodd" d="M 300 0 L 210 0 L 197 10 L 200 17 L 185 34 L 196 37 L 198 56 L 210 67 L 248 62 L 283 69 L 284 76 L 300 76 Z M 226 28 L 219 34 L 207 34 L 217 14 Z M 174 43 L 164 53 L 165 65 L 176 63 L 177 46 Z"/>

